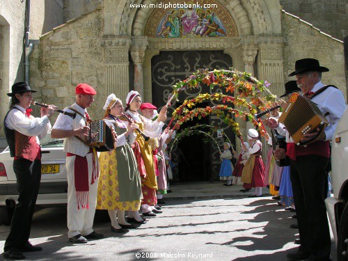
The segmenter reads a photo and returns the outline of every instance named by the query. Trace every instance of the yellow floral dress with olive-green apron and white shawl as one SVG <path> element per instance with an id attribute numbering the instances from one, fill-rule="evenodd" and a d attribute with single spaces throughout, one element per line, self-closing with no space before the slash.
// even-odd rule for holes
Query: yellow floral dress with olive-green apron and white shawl
<path id="1" fill-rule="evenodd" d="M 100 153 L 97 209 L 137 211 L 143 198 L 141 180 L 133 150 L 123 135 L 127 127 L 111 118 L 106 122 L 114 127 L 118 142 L 116 150 Z"/>

